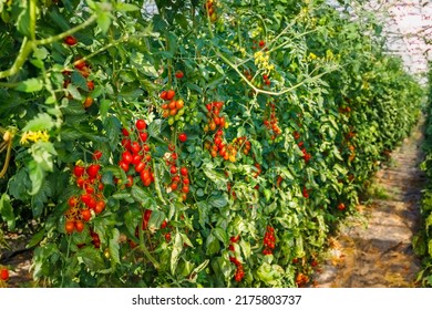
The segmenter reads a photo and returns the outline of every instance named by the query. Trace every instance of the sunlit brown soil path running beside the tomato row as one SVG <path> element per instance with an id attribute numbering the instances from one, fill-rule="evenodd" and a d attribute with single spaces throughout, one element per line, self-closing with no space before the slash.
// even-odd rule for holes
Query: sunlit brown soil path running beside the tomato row
<path id="1" fill-rule="evenodd" d="M 390 163 L 372 179 L 374 195 L 359 206 L 359 216 L 341 226 L 330 240 L 328 259 L 315 279 L 316 287 L 415 287 L 420 259 L 411 240 L 419 226 L 424 176 L 423 123 L 391 154 Z"/>

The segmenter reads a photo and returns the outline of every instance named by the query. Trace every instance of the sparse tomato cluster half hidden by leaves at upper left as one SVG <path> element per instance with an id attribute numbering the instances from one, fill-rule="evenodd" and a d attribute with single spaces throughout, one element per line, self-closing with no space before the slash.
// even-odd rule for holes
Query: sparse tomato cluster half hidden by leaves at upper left
<path id="1" fill-rule="evenodd" d="M 66 45 L 69 46 L 73 46 L 78 43 L 78 40 L 72 37 L 72 35 L 68 35 L 66 38 L 64 38 L 64 41 L 63 41 Z M 90 70 L 90 65 L 88 62 L 85 62 L 84 60 L 82 59 L 78 59 L 75 62 L 74 62 L 74 68 L 78 70 L 78 72 L 84 78 L 84 79 L 88 79 L 90 73 L 91 73 L 91 70 Z M 65 75 L 65 79 L 64 79 L 64 82 L 63 82 L 63 87 L 66 89 L 68 85 L 71 83 L 71 79 L 70 79 L 70 75 L 72 74 L 72 71 L 69 71 L 69 70 L 64 70 L 63 71 L 63 74 Z M 91 96 L 91 92 L 94 90 L 94 82 L 91 81 L 91 80 L 86 80 L 86 84 L 84 87 L 81 89 L 82 92 L 84 92 L 84 101 L 83 101 L 83 106 L 85 108 L 90 107 L 92 104 L 93 104 L 93 97 Z M 70 95 L 72 97 L 72 95 Z"/>

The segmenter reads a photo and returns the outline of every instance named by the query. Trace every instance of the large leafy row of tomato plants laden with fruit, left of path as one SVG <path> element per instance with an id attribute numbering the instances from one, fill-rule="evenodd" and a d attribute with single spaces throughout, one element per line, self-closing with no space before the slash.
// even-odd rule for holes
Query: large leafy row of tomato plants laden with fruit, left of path
<path id="1" fill-rule="evenodd" d="M 40 286 L 306 286 L 416 122 L 350 7 L 35 4 L 0 7 L 0 214 Z"/>

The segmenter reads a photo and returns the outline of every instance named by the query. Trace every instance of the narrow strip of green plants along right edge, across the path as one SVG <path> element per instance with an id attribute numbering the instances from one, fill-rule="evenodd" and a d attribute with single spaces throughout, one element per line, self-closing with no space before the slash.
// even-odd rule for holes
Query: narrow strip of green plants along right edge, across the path
<path id="1" fill-rule="evenodd" d="M 421 270 L 418 275 L 418 282 L 423 287 L 432 287 L 432 65 L 428 74 L 428 101 L 424 106 L 424 141 L 422 154 L 424 156 L 420 168 L 425 177 L 425 185 L 422 189 L 420 202 L 420 228 L 413 238 L 413 248 L 421 258 Z"/>

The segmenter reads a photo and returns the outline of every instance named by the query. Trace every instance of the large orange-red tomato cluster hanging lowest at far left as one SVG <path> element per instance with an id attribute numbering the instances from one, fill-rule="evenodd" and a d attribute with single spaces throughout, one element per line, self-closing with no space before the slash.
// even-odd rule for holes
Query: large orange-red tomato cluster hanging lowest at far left
<path id="1" fill-rule="evenodd" d="M 101 158 L 102 153 L 96 151 L 93 154 L 95 159 Z M 68 200 L 69 208 L 65 211 L 65 230 L 72 234 L 74 230 L 81 232 L 84 229 L 84 223 L 89 221 L 94 214 L 100 214 L 105 209 L 105 198 L 103 197 L 102 175 L 100 174 L 101 166 L 97 163 L 92 163 L 89 166 L 75 165 L 73 175 L 75 184 L 82 189 L 81 196 L 71 196 Z"/>

